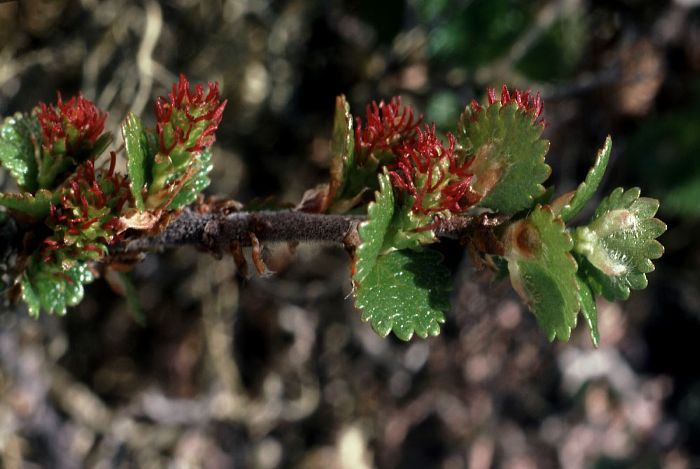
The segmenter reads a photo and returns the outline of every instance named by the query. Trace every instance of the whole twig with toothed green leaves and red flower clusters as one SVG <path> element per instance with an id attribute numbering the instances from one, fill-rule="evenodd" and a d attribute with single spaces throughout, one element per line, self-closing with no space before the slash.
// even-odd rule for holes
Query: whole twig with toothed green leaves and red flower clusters
<path id="1" fill-rule="evenodd" d="M 452 286 L 442 255 L 427 246 L 451 237 L 477 269 L 509 276 L 550 340 L 567 340 L 581 311 L 597 345 L 594 295 L 624 300 L 645 288 L 650 260 L 663 253 L 659 204 L 638 188 L 614 190 L 587 225 L 566 225 L 598 188 L 612 143 L 577 190 L 552 201 L 542 100 L 529 91 L 503 87 L 497 99 L 488 90 L 488 102 L 467 106 L 445 139 L 398 97 L 367 106 L 364 120 L 338 97 L 331 179 L 291 210 L 198 197 L 225 104 L 217 85 L 205 95 L 181 76 L 156 102 L 155 130 L 133 114 L 123 124 L 126 175 L 114 152 L 95 163 L 111 138 L 104 113 L 82 96 L 6 119 L 0 160 L 20 193 L 0 204 L 12 216 L 4 223 L 23 233 L 7 273 L 30 314 L 64 313 L 98 266 L 129 267 L 152 246 L 227 251 L 243 274 L 242 248 L 251 246 L 263 274 L 261 241 L 319 239 L 350 253 L 355 304 L 379 335 L 437 335 Z"/>

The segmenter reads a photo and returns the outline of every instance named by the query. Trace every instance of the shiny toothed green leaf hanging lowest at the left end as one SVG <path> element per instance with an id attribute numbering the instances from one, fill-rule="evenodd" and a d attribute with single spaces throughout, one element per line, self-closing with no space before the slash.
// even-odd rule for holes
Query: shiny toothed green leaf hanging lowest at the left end
<path id="1" fill-rule="evenodd" d="M 39 315 L 40 307 L 48 313 L 66 314 L 67 306 L 81 302 L 83 285 L 93 279 L 85 262 L 76 262 L 70 269 L 62 270 L 59 265 L 47 264 L 41 256 L 34 255 L 22 274 L 22 298 L 32 316 Z"/>

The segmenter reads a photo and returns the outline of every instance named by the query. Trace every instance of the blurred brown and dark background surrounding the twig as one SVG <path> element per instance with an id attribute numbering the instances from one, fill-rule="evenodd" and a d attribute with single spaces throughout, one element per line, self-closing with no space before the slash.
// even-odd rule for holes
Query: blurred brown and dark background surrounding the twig
<path id="1" fill-rule="evenodd" d="M 64 317 L 2 306 L 2 467 L 700 467 L 699 1 L 0 3 L 2 116 L 81 90 L 118 135 L 179 73 L 228 99 L 206 193 L 242 202 L 327 181 L 338 94 L 363 118 L 401 94 L 446 132 L 486 86 L 531 88 L 557 193 L 612 134 L 599 193 L 659 198 L 666 254 L 646 290 L 599 300 L 598 349 L 580 323 L 547 342 L 449 242 L 452 310 L 411 342 L 359 320 L 338 249 L 268 246 L 277 273 L 248 280 L 150 255 L 145 325 L 102 280 Z"/>

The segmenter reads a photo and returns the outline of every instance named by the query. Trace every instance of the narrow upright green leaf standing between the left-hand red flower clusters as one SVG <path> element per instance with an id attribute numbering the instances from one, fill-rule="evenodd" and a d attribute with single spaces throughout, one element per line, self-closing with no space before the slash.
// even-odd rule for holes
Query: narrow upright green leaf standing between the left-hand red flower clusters
<path id="1" fill-rule="evenodd" d="M 126 122 L 121 125 L 121 133 L 124 137 L 124 153 L 131 180 L 129 189 L 134 196 L 136 208 L 139 211 L 144 211 L 142 190 L 151 182 L 151 167 L 153 166 L 151 144 L 141 119 L 134 113 L 129 113 L 126 117 Z"/>

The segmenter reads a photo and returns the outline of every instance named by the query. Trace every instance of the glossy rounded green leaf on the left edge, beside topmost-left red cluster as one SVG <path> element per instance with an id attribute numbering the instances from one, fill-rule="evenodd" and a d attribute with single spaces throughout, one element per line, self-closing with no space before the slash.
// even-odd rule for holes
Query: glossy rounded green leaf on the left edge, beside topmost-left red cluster
<path id="1" fill-rule="evenodd" d="M 17 179 L 20 190 L 34 193 L 39 188 L 41 125 L 36 114 L 16 113 L 0 127 L 0 162 Z"/>

